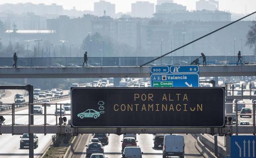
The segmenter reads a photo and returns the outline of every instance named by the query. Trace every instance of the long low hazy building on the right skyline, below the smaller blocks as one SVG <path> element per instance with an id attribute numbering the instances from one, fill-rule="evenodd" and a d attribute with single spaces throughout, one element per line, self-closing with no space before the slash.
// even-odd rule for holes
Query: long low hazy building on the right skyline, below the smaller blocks
<path id="1" fill-rule="evenodd" d="M 175 11 L 155 13 L 156 19 L 164 21 L 231 21 L 231 14 L 225 11 Z"/>

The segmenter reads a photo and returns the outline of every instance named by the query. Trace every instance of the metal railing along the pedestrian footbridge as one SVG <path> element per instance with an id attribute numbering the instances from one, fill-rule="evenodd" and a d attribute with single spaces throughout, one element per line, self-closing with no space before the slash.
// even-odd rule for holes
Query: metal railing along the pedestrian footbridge
<path id="1" fill-rule="evenodd" d="M 88 66 L 140 66 L 157 57 L 88 57 Z M 154 65 L 189 65 L 199 56 L 167 56 L 162 57 L 146 66 Z M 207 66 L 236 65 L 238 56 L 206 56 Z M 242 55 L 245 65 L 255 65 L 256 55 Z M 203 59 L 199 58 L 199 63 Z M 0 57 L 1 67 L 12 67 L 12 57 Z M 240 63 L 239 63 L 240 64 Z M 19 57 L 18 67 L 75 67 L 83 66 L 83 57 Z"/>

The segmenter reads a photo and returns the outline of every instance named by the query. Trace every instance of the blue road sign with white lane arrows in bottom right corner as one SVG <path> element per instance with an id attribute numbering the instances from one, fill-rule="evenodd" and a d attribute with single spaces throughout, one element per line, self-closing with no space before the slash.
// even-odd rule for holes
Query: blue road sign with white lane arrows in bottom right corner
<path id="1" fill-rule="evenodd" d="M 256 158 L 255 135 L 231 136 L 231 158 Z"/>

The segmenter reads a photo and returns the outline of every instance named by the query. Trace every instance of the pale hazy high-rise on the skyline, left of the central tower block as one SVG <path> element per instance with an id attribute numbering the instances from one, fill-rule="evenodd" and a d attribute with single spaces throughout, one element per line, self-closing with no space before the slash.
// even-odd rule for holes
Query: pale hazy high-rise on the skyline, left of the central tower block
<path id="1" fill-rule="evenodd" d="M 94 14 L 97 16 L 115 16 L 115 4 L 100 0 L 94 3 Z"/>

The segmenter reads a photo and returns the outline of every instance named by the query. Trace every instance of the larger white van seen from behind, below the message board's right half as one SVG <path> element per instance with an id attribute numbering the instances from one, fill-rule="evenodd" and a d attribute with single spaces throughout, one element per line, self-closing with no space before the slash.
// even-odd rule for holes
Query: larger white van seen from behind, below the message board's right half
<path id="1" fill-rule="evenodd" d="M 164 136 L 163 158 L 167 156 L 180 156 L 180 158 L 184 158 L 184 149 L 185 143 L 183 135 Z"/>

